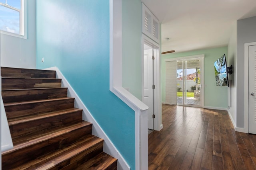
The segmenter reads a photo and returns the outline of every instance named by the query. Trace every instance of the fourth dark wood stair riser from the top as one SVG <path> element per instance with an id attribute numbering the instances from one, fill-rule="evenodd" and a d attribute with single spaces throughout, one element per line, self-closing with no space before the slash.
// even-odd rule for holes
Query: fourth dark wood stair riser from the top
<path id="1" fill-rule="evenodd" d="M 46 113 L 50 111 L 58 111 L 62 109 L 70 109 L 74 107 L 74 98 L 57 100 L 50 102 L 37 102 L 32 104 L 22 104 L 14 106 L 5 106 L 6 116 L 8 119 Z"/>

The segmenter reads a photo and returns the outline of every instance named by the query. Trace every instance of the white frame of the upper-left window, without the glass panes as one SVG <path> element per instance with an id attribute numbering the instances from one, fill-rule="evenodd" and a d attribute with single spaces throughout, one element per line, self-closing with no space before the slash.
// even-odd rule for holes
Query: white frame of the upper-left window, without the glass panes
<path id="1" fill-rule="evenodd" d="M 0 30 L 0 33 L 5 34 L 5 35 L 11 35 L 11 36 L 14 36 L 14 37 L 27 39 L 26 0 L 20 0 L 20 10 L 17 9 L 17 8 L 14 8 L 12 6 L 3 4 L 1 2 L 0 2 L 0 6 L 4 6 L 6 8 L 9 8 L 11 10 L 15 10 L 15 11 L 20 13 L 20 33 L 16 34 L 16 33 L 11 33 L 11 32 L 4 31 L 4 30 Z"/>

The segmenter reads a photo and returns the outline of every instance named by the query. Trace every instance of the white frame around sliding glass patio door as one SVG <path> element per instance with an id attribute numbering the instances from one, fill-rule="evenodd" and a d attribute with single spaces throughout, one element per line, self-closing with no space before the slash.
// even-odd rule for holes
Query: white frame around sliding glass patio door
<path id="1" fill-rule="evenodd" d="M 200 77 L 202 77 L 202 80 L 201 80 L 201 91 L 200 91 L 200 94 L 201 94 L 201 97 L 202 99 L 200 98 L 200 106 L 199 107 L 202 107 L 204 108 L 204 54 L 201 54 L 201 55 L 191 55 L 191 56 L 186 56 L 186 57 L 175 57 L 175 58 L 171 58 L 171 59 L 165 59 L 165 62 L 168 62 L 168 61 L 179 61 L 179 60 L 188 60 L 188 59 L 200 59 L 201 63 L 201 68 L 200 68 Z M 190 106 L 190 107 L 198 107 L 198 106 L 193 106 L 193 105 L 180 105 L 180 106 Z"/>

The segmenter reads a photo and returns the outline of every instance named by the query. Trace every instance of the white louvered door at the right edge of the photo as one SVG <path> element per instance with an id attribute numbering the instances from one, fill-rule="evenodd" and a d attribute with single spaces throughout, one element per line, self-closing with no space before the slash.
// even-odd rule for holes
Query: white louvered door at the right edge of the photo
<path id="1" fill-rule="evenodd" d="M 249 133 L 256 134 L 256 45 L 249 46 Z"/>

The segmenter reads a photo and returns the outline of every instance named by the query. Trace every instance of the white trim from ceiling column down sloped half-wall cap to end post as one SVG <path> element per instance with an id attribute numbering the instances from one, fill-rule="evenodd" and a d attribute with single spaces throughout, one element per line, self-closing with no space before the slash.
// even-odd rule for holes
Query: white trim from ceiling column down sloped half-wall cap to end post
<path id="1" fill-rule="evenodd" d="M 148 106 L 122 87 L 122 0 L 110 4 L 110 91 L 135 112 L 135 169 L 148 170 Z"/>

